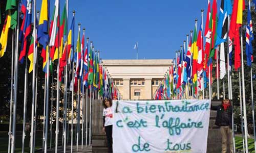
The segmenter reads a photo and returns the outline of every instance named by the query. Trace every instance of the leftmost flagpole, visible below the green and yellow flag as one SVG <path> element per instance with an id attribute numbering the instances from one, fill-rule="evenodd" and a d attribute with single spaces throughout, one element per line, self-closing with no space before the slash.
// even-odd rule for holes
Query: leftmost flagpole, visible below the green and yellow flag
<path id="1" fill-rule="evenodd" d="M 14 65 L 14 31 L 12 31 L 12 64 L 11 64 L 11 95 L 10 95 L 10 116 L 9 116 L 9 132 L 8 132 L 8 153 L 11 151 L 11 129 L 12 129 L 12 103 L 13 103 L 13 65 Z"/>

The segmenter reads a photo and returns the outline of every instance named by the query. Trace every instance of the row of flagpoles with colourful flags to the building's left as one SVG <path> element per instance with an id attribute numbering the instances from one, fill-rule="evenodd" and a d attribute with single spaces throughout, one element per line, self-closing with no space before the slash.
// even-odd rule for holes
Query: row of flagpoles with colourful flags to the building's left
<path id="1" fill-rule="evenodd" d="M 7 4 L 10 4 L 12 0 L 8 0 Z M 22 2 L 22 7 L 21 9 L 19 9 L 19 3 Z M 19 40 L 19 39 L 23 39 L 19 38 L 19 12 L 22 11 L 22 13 L 24 13 L 24 15 L 26 14 L 26 16 L 23 18 L 23 23 L 22 23 L 22 27 L 25 24 L 29 24 L 29 30 L 31 30 L 31 20 L 32 20 L 32 4 L 34 7 L 34 11 L 33 11 L 33 20 L 34 20 L 34 28 L 33 28 L 33 34 L 31 35 L 31 48 L 32 48 L 32 52 L 31 52 L 31 48 L 29 48 L 29 51 L 27 53 L 27 41 L 28 36 L 30 35 L 30 31 L 27 33 L 27 29 L 22 29 L 22 33 L 23 35 L 25 34 L 25 38 L 24 40 Z M 66 13 L 67 13 L 67 21 L 68 21 L 68 0 L 66 0 Z M 24 8 L 26 8 L 26 10 L 24 10 Z M 16 9 L 16 10 L 15 10 Z M 62 78 L 62 71 L 60 73 L 60 66 L 65 67 L 65 72 L 63 73 L 63 78 L 65 79 L 64 81 L 64 99 L 63 99 L 63 118 L 62 118 L 62 147 L 64 152 L 66 152 L 66 148 L 67 148 L 67 143 L 69 143 L 68 139 L 69 139 L 69 127 L 67 126 L 67 123 L 69 125 L 70 123 L 70 119 L 69 119 L 69 114 L 70 114 L 70 106 L 69 106 L 69 101 L 70 101 L 70 94 L 72 94 L 71 96 L 71 141 L 70 141 L 70 145 L 71 148 L 73 148 L 73 136 L 74 136 L 74 129 L 73 129 L 73 124 L 74 124 L 74 101 L 75 101 L 75 84 L 77 84 L 77 100 L 76 100 L 76 129 L 75 129 L 75 138 L 76 138 L 76 151 L 78 151 L 78 145 L 81 143 L 81 149 L 83 149 L 83 145 L 84 145 L 84 139 L 85 139 L 85 145 L 86 147 L 89 145 L 91 146 L 91 141 L 92 141 L 92 103 L 94 99 L 102 99 L 102 98 L 120 98 L 120 94 L 117 90 L 117 88 L 115 87 L 115 85 L 113 84 L 113 80 L 111 79 L 109 73 L 107 73 L 106 68 L 104 68 L 101 65 L 101 59 L 99 58 L 99 51 L 97 53 L 97 51 L 95 50 L 94 53 L 94 46 L 92 45 L 92 41 L 91 41 L 91 47 L 90 47 L 90 54 L 88 52 L 88 43 L 89 43 L 89 37 L 87 38 L 87 48 L 86 50 L 84 50 L 84 35 L 85 35 L 85 29 L 83 29 L 83 39 L 81 42 L 82 45 L 80 44 L 80 23 L 78 24 L 78 29 L 79 29 L 79 34 L 78 34 L 78 40 L 77 40 L 77 48 L 76 50 L 78 50 L 76 52 L 76 64 L 73 61 L 75 59 L 75 54 L 74 54 L 74 42 L 69 40 L 69 39 L 74 39 L 74 34 L 72 34 L 72 38 L 70 38 L 70 35 L 68 34 L 68 30 L 66 32 L 66 38 L 67 41 L 65 41 L 65 46 L 63 48 L 64 53 L 66 54 L 66 64 L 65 65 L 60 65 L 63 63 L 60 63 L 61 57 L 60 55 L 62 54 L 63 50 L 60 50 L 60 46 L 62 44 L 62 39 L 60 38 L 60 28 L 57 28 L 57 31 L 53 31 L 50 33 L 52 34 L 50 37 L 50 41 L 49 38 L 46 41 L 46 44 L 42 44 L 40 37 L 38 36 L 38 33 L 40 34 L 41 37 L 43 37 L 42 33 L 40 33 L 39 31 L 37 31 L 37 29 L 40 29 L 40 26 L 42 26 L 42 23 L 45 24 L 45 21 L 47 21 L 47 25 L 46 25 L 46 29 L 49 29 L 49 24 L 48 24 L 48 1 L 47 0 L 42 0 L 42 6 L 41 6 L 41 14 L 40 14 L 40 20 L 39 20 L 39 24 L 37 25 L 37 19 L 39 18 L 39 11 L 36 12 L 36 0 L 32 1 L 18 1 L 18 5 L 16 6 L 16 8 L 14 8 L 14 10 L 17 12 L 17 23 L 16 23 L 16 28 L 13 30 L 12 33 L 12 59 L 11 59 L 11 95 L 10 95 L 10 124 L 9 124 L 9 141 L 8 141 L 8 153 L 10 152 L 15 152 L 15 140 L 16 140 L 16 108 L 17 108 L 17 93 L 18 93 L 18 64 L 20 59 L 24 58 L 24 56 L 26 56 L 26 54 L 28 54 L 25 57 L 25 80 L 24 80 L 24 111 L 23 111 L 23 133 L 22 133 L 22 152 L 24 152 L 25 150 L 25 138 L 26 138 L 26 133 L 25 133 L 25 128 L 27 126 L 27 101 L 30 98 L 30 96 L 28 96 L 28 72 L 31 72 L 33 70 L 32 73 L 32 107 L 31 107 L 31 131 L 30 131 L 30 152 L 34 152 L 35 151 L 35 135 L 36 135 L 36 119 L 37 119 L 37 81 L 38 81 L 38 77 L 37 77 L 37 72 L 38 72 L 38 59 L 37 59 L 37 55 L 38 55 L 38 50 L 37 50 L 37 46 L 39 44 L 42 45 L 42 50 L 41 50 L 41 55 L 43 54 L 43 51 L 45 51 L 45 57 L 43 57 L 43 66 L 44 66 L 44 70 L 45 70 L 45 85 L 43 86 L 45 89 L 44 92 L 44 116 L 43 117 L 43 128 L 42 128 L 42 150 L 44 152 L 47 152 L 47 150 L 49 149 L 48 146 L 48 141 L 49 141 L 49 123 L 50 123 L 50 149 L 52 148 L 52 131 L 53 131 L 53 100 L 54 100 L 54 95 L 53 95 L 53 89 L 54 89 L 54 71 L 50 71 L 50 67 L 53 66 L 54 63 L 53 60 L 51 59 L 51 52 L 50 52 L 50 47 L 54 44 L 54 42 L 57 42 L 57 59 L 58 59 L 58 63 L 57 63 L 57 87 L 56 87 L 56 128 L 55 128 L 55 152 L 58 151 L 58 140 L 59 140 L 59 111 L 60 106 L 59 106 L 59 101 L 60 101 L 60 80 Z M 28 15 L 30 14 L 30 15 Z M 47 15 L 46 15 L 47 14 Z M 57 14 L 57 16 L 55 16 Z M 65 15 L 65 13 L 63 13 Z M 62 14 L 62 15 L 63 15 Z M 8 14 L 9 15 L 9 14 Z M 59 15 L 60 15 L 60 11 L 59 11 L 59 1 L 56 0 L 55 1 L 55 13 L 54 13 L 54 20 L 52 20 L 53 26 L 57 26 L 57 19 L 59 19 Z M 75 16 L 75 11 L 73 11 L 73 21 L 74 21 L 74 16 Z M 8 16 L 9 17 L 9 16 Z M 4 55 L 4 52 L 6 50 L 7 47 L 7 38 L 8 38 L 8 31 L 10 26 L 8 24 L 8 19 L 6 19 L 7 22 L 5 22 L 6 28 L 3 29 L 2 34 L 1 34 L 1 45 L 5 45 L 3 48 L 1 48 L 0 53 L 1 53 L 1 57 Z M 30 21 L 30 22 L 29 22 Z M 73 26 L 74 26 L 74 22 Z M 28 23 L 27 23 L 28 22 Z M 10 23 L 10 22 L 9 22 Z M 66 24 L 66 23 L 65 23 Z M 26 25 L 25 25 L 26 27 Z M 28 28 L 26 27 L 26 28 Z M 72 29 L 72 25 L 71 25 L 71 29 Z M 24 32 L 24 30 L 26 32 Z M 6 32 L 7 31 L 7 32 Z M 16 33 L 14 33 L 14 31 L 16 31 Z M 74 32 L 74 28 L 73 28 L 73 32 Z M 7 34 L 6 34 L 7 33 Z M 44 34 L 48 33 L 48 31 L 44 31 Z M 50 35 L 49 35 L 50 36 Z M 16 40 L 14 41 L 14 38 L 16 37 Z M 39 37 L 39 38 L 38 38 Z M 48 34 L 47 34 L 48 37 Z M 4 43 L 2 42 L 2 40 L 5 39 Z M 26 40 L 25 40 L 26 39 Z M 54 40 L 55 39 L 55 40 Z M 25 45 L 25 49 L 22 46 L 22 49 L 25 50 L 24 56 L 22 57 L 22 51 L 20 52 L 20 56 L 18 58 L 19 55 L 19 41 L 22 41 L 22 44 Z M 26 41 L 26 42 L 25 42 Z M 69 42 L 72 42 L 71 47 L 69 47 Z M 15 47 L 14 47 L 15 45 Z M 73 46 L 72 46 L 73 45 Z M 81 47 L 81 48 L 80 48 Z M 44 50 L 45 49 L 45 50 Z M 65 51 L 66 49 L 66 51 Z M 81 49 L 81 52 L 79 51 Z M 72 50 L 72 53 L 70 53 L 70 51 Z M 70 53 L 70 54 L 69 54 Z M 83 55 L 84 54 L 84 55 Z M 32 55 L 32 56 L 31 56 Z M 71 61 L 69 56 L 72 56 L 73 60 Z M 89 56 L 88 56 L 89 55 Z M 95 59 L 93 59 L 93 56 L 95 55 Z M 64 55 L 62 55 L 64 56 Z M 78 57 L 81 56 L 82 59 L 79 59 Z M 84 56 L 84 57 L 83 57 Z M 30 66 L 28 66 L 28 59 L 30 60 Z M 70 61 L 71 62 L 70 62 Z M 94 61 L 96 60 L 96 61 Z M 23 61 L 23 60 L 22 60 Z M 68 62 L 69 61 L 69 62 Z M 61 61 L 62 62 L 62 61 Z M 79 63 L 80 62 L 80 63 Z M 21 62 L 22 63 L 22 62 Z M 45 64 L 46 63 L 46 64 Z M 68 64 L 69 63 L 69 64 Z M 80 64 L 80 66 L 79 66 Z M 96 65 L 95 65 L 96 64 Z M 84 69 L 82 68 L 84 66 Z M 90 68 L 89 68 L 90 66 Z M 87 68 L 87 70 L 86 70 Z M 75 70 L 75 71 L 74 71 Z M 79 72 L 80 71 L 80 72 Z M 94 73 L 95 71 L 95 73 Z M 79 78 L 79 74 L 80 73 L 80 77 Z M 83 74 L 84 73 L 84 74 Z M 87 73 L 87 74 L 86 74 Z M 50 74 L 52 75 L 50 78 Z M 71 74 L 71 75 L 70 75 Z M 92 74 L 92 75 L 91 75 Z M 86 76 L 90 75 L 90 78 L 86 77 Z M 93 78 L 91 78 L 91 76 L 93 76 Z M 96 82 L 95 78 L 97 78 Z M 72 80 L 70 80 L 72 77 Z M 84 78 L 83 78 L 84 77 Z M 59 80 L 60 78 L 60 80 Z M 77 78 L 77 80 L 76 80 Z M 86 80 L 86 78 L 88 79 L 88 81 L 90 81 L 91 83 L 89 84 L 89 82 Z M 90 80 L 89 80 L 90 79 Z M 93 80 L 92 80 L 93 79 Z M 51 82 L 51 85 L 50 85 Z M 68 89 L 68 82 L 70 82 L 70 88 Z M 87 84 L 89 84 L 87 86 Z M 79 86 L 81 85 L 81 89 L 79 89 Z M 86 89 L 85 86 L 86 85 Z M 50 95 L 50 86 L 51 86 L 51 95 Z M 68 92 L 71 91 L 71 92 Z M 84 91 L 86 91 L 86 93 L 84 93 Z M 90 93 L 90 94 L 89 94 Z M 42 94 L 42 93 L 39 93 Z M 89 94 L 89 95 L 88 95 Z M 88 99 L 90 98 L 90 100 Z M 51 100 L 51 104 L 49 99 Z M 86 104 L 84 104 L 86 103 Z M 88 104 L 89 103 L 89 104 Z M 80 104 L 82 106 L 80 106 Z M 49 106 L 50 105 L 50 106 Z M 89 105 L 89 107 L 88 107 Z M 68 109 L 69 107 L 69 109 Z M 82 108 L 81 108 L 82 107 Z M 50 112 L 49 112 L 49 108 L 50 108 Z M 69 110 L 69 112 L 68 112 Z M 80 111 L 82 111 L 82 114 L 80 116 Z M 88 112 L 89 111 L 89 112 Z M 50 114 L 50 117 L 49 117 Z M 89 116 L 88 116 L 89 115 Z M 81 120 L 81 124 L 82 127 L 80 129 L 80 117 L 82 118 Z M 84 120 L 85 118 L 85 120 Z M 88 122 L 89 121 L 89 122 Z M 88 127 L 88 123 L 89 123 L 89 127 Z M 84 129 L 84 124 L 86 126 L 86 129 Z M 80 136 L 80 132 L 81 132 L 81 136 Z M 88 134 L 89 132 L 89 134 Z M 85 133 L 85 138 L 84 138 L 84 133 Z M 89 137 L 89 138 L 88 138 Z M 88 141 L 89 140 L 89 141 Z M 73 152 L 73 149 L 71 149 L 71 152 Z"/>

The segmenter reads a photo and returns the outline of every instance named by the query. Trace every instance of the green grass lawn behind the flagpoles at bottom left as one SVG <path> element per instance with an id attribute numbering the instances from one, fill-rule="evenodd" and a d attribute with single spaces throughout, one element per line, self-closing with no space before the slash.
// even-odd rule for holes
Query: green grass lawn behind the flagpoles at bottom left
<path id="1" fill-rule="evenodd" d="M 52 147 L 54 147 L 55 132 L 52 133 Z M 59 137 L 61 137 L 59 135 Z M 0 133 L 0 153 L 8 152 L 8 132 Z M 48 146 L 50 146 L 50 135 L 48 136 Z M 29 147 L 30 136 L 27 134 L 25 137 L 25 148 L 24 152 L 30 152 Z M 36 132 L 35 136 L 35 150 L 42 147 L 42 132 Z M 16 132 L 16 143 L 15 143 L 15 152 L 22 152 L 22 132 Z"/>

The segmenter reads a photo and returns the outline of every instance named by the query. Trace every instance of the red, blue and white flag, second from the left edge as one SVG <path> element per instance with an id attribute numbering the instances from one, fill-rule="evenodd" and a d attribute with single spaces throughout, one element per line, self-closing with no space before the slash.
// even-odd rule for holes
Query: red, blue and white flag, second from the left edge
<path id="1" fill-rule="evenodd" d="M 25 0 L 23 1 L 25 2 Z M 27 43 L 28 43 L 28 36 L 31 33 L 31 20 L 32 20 L 32 0 L 26 0 L 26 3 L 24 3 L 24 5 L 26 5 L 26 10 L 23 10 L 23 13 L 25 13 L 24 19 L 23 19 L 23 23 L 22 23 L 22 27 L 20 28 L 20 32 L 23 33 L 23 37 L 21 38 L 22 40 L 22 50 L 20 51 L 20 55 L 19 55 L 19 62 L 23 63 L 24 61 L 24 57 L 26 55 L 27 52 Z M 23 7 L 25 7 L 24 5 L 22 5 Z M 22 8 L 23 8 L 22 7 Z"/>

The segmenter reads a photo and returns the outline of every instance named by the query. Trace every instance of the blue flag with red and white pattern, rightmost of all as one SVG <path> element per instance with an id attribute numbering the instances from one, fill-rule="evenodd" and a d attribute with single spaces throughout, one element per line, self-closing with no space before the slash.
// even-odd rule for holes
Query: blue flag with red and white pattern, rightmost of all
<path id="1" fill-rule="evenodd" d="M 246 53 L 247 66 L 251 66 L 251 62 L 253 61 L 251 42 L 254 39 L 254 37 L 253 37 L 253 30 L 252 30 L 251 10 L 249 7 L 247 10 L 247 25 L 246 25 L 245 38 L 246 38 L 245 53 Z"/>

